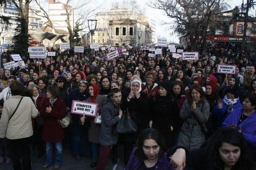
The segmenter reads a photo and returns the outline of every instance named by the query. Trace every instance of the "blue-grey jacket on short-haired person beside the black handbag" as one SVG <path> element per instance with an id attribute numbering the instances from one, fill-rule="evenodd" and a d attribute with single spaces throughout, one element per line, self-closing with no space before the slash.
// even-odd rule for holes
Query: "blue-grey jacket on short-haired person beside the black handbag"
<path id="1" fill-rule="evenodd" d="M 99 135 L 99 143 L 104 146 L 115 145 L 117 143 L 118 134 L 112 133 L 112 126 L 120 121 L 119 106 L 116 106 L 112 99 L 108 98 L 102 106 L 101 127 Z"/>

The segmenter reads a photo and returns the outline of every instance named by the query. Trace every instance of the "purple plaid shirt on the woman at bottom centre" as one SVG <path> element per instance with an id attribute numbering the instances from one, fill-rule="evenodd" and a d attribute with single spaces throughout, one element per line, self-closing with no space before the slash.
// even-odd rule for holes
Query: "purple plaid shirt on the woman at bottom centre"
<path id="1" fill-rule="evenodd" d="M 137 148 L 138 147 L 133 149 L 129 162 L 124 170 L 137 170 L 140 167 L 140 164 L 142 164 L 143 159 L 138 159 L 135 157 L 135 151 Z M 155 165 L 155 170 L 174 170 L 167 159 L 166 152 L 164 153 L 163 157 L 158 158 L 158 162 L 156 162 Z"/>

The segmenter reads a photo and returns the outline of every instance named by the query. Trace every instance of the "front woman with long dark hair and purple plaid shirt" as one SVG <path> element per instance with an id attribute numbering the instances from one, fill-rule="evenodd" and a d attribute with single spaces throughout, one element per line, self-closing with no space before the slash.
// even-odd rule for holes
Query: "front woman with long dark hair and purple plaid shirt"
<path id="1" fill-rule="evenodd" d="M 124 170 L 172 169 L 166 156 L 164 139 L 156 129 L 142 131 L 136 145 Z"/>

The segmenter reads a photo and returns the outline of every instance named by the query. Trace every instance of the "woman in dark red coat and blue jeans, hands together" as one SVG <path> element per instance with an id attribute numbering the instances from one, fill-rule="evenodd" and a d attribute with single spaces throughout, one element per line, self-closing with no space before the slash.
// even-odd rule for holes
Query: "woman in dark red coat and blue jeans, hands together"
<path id="1" fill-rule="evenodd" d="M 42 167 L 47 168 L 54 164 L 53 168 L 59 169 L 62 165 L 64 131 L 58 120 L 66 116 L 66 104 L 60 98 L 58 86 L 48 86 L 46 95 L 47 98 L 39 109 L 40 116 L 44 118 L 42 139 L 46 143 L 46 161 Z M 55 148 L 54 154 L 53 147 Z"/>

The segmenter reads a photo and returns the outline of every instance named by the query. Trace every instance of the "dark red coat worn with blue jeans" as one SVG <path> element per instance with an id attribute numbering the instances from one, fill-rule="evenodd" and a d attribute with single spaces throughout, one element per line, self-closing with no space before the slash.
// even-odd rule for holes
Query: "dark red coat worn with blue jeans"
<path id="1" fill-rule="evenodd" d="M 46 113 L 46 107 L 52 107 L 50 113 Z M 64 131 L 58 123 L 58 119 L 63 119 L 66 115 L 66 104 L 61 98 L 57 98 L 54 104 L 46 98 L 39 109 L 40 116 L 44 118 L 43 141 L 59 142 L 64 139 Z"/>

